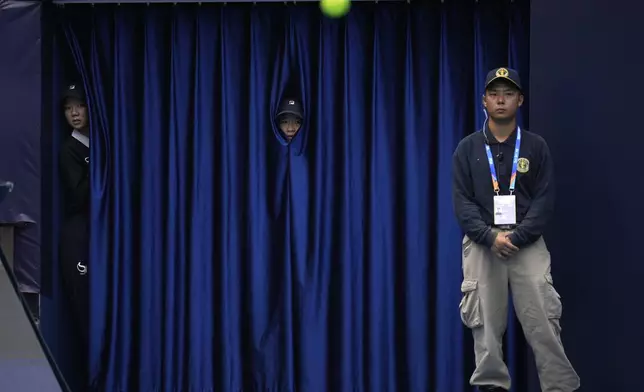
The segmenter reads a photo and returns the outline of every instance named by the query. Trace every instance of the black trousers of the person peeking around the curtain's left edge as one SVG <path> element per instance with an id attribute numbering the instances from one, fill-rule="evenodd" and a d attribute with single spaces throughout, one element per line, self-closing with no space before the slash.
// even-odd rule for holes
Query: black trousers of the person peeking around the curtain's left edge
<path id="1" fill-rule="evenodd" d="M 74 335 L 78 337 L 81 364 L 88 365 L 89 353 L 89 219 L 68 218 L 62 228 L 59 266 L 67 307 L 72 311 Z M 88 369 L 79 369 L 87 385 Z"/>

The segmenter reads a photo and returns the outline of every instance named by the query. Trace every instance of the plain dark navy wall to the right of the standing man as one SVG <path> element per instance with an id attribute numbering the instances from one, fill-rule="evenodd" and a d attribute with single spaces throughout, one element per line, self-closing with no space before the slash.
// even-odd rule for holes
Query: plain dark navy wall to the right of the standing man
<path id="1" fill-rule="evenodd" d="M 556 161 L 547 240 L 582 391 L 644 388 L 640 3 L 532 2 L 530 123 Z"/>

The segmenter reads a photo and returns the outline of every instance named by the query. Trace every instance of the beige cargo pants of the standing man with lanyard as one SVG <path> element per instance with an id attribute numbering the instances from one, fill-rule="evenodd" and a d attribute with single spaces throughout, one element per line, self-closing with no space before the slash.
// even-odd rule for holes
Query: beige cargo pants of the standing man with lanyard
<path id="1" fill-rule="evenodd" d="M 569 392 L 579 388 L 579 377 L 559 336 L 562 306 L 552 284 L 550 253 L 543 238 L 501 260 L 466 236 L 463 276 L 459 308 L 463 323 L 472 330 L 476 356 L 470 384 L 510 389 L 502 349 L 509 286 L 523 333 L 534 352 L 541 390 Z"/>

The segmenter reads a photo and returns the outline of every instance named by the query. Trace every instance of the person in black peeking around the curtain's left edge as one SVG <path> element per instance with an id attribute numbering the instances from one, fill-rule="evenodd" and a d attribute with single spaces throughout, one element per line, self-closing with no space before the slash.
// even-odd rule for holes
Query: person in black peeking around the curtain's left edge
<path id="1" fill-rule="evenodd" d="M 81 85 L 67 86 L 61 103 L 71 132 L 59 155 L 65 206 L 59 265 L 66 302 L 73 311 L 74 324 L 82 339 L 80 348 L 86 355 L 89 339 L 89 117 Z"/>

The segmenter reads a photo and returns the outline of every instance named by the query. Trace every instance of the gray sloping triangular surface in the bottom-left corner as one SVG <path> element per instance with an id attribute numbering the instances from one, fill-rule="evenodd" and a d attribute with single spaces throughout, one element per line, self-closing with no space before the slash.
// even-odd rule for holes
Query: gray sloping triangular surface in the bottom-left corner
<path id="1" fill-rule="evenodd" d="M 62 391 L 2 263 L 0 389 L 11 392 Z"/>

